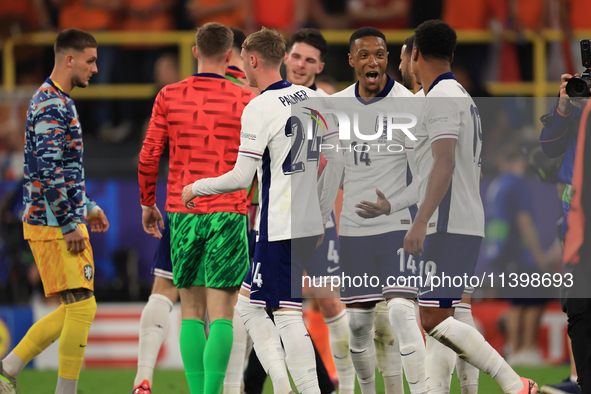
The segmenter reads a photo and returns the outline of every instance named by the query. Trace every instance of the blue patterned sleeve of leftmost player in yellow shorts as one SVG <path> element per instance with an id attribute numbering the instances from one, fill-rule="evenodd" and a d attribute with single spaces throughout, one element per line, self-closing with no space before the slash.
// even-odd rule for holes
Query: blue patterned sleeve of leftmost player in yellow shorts
<path id="1" fill-rule="evenodd" d="M 35 121 L 35 147 L 39 181 L 51 212 L 62 234 L 68 234 L 78 225 L 71 214 L 70 200 L 64 180 L 63 153 L 68 119 L 63 101 L 53 99 L 40 108 Z"/>

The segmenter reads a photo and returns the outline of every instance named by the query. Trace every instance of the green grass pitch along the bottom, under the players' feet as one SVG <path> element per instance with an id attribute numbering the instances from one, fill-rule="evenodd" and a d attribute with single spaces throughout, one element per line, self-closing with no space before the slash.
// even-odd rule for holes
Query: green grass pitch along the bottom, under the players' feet
<path id="1" fill-rule="evenodd" d="M 562 381 L 570 374 L 568 367 L 546 368 L 517 368 L 521 375 L 532 378 L 540 386 Z M 135 370 L 84 370 L 80 375 L 78 394 L 131 394 Z M 53 394 L 57 382 L 57 371 L 24 370 L 19 376 L 21 394 Z M 379 374 L 376 376 L 377 393 L 384 393 L 384 385 Z M 189 394 L 189 388 L 183 371 L 156 370 L 154 372 L 153 394 Z M 460 387 L 457 379 L 452 381 L 451 393 L 459 393 Z M 497 383 L 488 375 L 480 374 L 480 393 L 502 394 Z M 265 383 L 263 394 L 272 394 L 273 387 L 269 379 Z M 356 386 L 356 394 L 360 394 L 359 386 Z M 405 393 L 410 393 L 408 387 Z"/>

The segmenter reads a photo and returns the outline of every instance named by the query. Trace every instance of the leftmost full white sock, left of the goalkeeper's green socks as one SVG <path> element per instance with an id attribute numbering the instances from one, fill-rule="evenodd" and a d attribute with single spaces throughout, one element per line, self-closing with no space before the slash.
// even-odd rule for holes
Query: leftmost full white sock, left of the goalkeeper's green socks
<path id="1" fill-rule="evenodd" d="M 168 317 L 172 308 L 172 301 L 165 295 L 152 294 L 148 298 L 140 319 L 140 344 L 134 386 L 141 384 L 144 379 L 148 379 L 150 385 L 152 384 L 154 366 L 166 337 Z"/>

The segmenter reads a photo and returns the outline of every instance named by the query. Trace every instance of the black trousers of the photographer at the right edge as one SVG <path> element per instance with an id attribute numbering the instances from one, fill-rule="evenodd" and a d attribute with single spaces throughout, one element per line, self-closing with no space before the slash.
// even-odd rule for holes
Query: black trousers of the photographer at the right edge
<path id="1" fill-rule="evenodd" d="M 563 276 L 572 274 L 573 286 L 563 288 L 562 310 L 568 317 L 568 336 L 572 341 L 582 394 L 591 394 L 591 269 L 589 261 L 565 265 Z"/>

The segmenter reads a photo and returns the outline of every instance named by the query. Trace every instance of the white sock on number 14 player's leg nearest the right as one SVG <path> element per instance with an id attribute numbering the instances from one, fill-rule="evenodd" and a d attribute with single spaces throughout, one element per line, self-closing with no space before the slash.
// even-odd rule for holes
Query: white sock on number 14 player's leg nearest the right
<path id="1" fill-rule="evenodd" d="M 406 381 L 412 394 L 427 392 L 425 384 L 425 342 L 417 324 L 415 303 L 405 298 L 388 301 L 392 328 L 400 341 L 400 355 Z"/>

